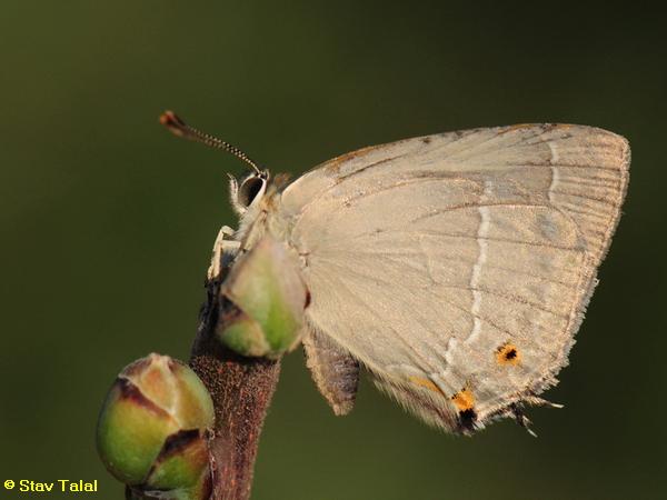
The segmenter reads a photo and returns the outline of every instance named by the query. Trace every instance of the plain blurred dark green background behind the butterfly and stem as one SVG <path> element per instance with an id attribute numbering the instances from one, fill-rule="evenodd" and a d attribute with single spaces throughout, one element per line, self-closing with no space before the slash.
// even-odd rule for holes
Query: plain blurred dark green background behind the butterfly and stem
<path id="1" fill-rule="evenodd" d="M 30 1 L 0 4 L 0 480 L 98 479 L 116 373 L 187 359 L 232 158 L 273 171 L 374 143 L 530 121 L 626 136 L 633 173 L 600 286 L 549 399 L 471 439 L 364 383 L 335 418 L 285 361 L 253 499 L 667 498 L 667 50 L 639 2 Z M 23 493 L 26 496 L 26 493 Z M 2 491 L 2 498 L 20 493 Z M 44 498 L 59 498 L 58 493 Z M 71 498 L 71 497 L 68 497 Z"/>

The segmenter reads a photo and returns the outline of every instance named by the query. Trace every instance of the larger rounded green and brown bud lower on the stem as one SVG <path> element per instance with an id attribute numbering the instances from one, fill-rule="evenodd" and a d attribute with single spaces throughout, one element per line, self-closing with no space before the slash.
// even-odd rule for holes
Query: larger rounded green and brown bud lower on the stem
<path id="1" fill-rule="evenodd" d="M 205 487 L 213 418 L 211 397 L 188 366 L 149 354 L 111 387 L 98 422 L 98 451 L 109 472 L 131 487 L 128 498 L 160 490 L 160 498 L 195 499 L 173 494 Z"/>

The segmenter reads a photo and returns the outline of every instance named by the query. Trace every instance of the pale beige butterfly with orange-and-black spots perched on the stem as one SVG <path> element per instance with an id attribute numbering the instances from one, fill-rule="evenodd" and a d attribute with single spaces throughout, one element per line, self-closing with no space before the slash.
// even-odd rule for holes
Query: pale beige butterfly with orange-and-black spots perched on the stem
<path id="1" fill-rule="evenodd" d="M 364 368 L 424 421 L 469 434 L 550 404 L 620 217 L 630 148 L 615 133 L 517 124 L 364 148 L 292 182 L 230 180 L 238 251 L 270 234 L 308 290 L 300 341 L 336 414 Z"/>

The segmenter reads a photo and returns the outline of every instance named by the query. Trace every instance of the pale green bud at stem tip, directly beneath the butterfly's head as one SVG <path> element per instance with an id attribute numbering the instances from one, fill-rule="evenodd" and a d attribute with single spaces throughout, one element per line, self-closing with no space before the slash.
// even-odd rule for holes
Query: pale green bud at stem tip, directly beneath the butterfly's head
<path id="1" fill-rule="evenodd" d="M 300 340 L 306 287 L 296 256 L 272 238 L 238 258 L 220 293 L 216 334 L 239 354 L 278 358 Z"/>

